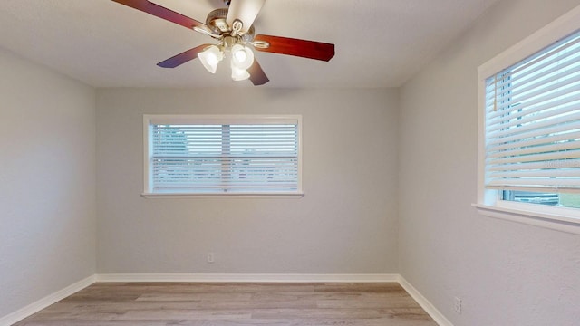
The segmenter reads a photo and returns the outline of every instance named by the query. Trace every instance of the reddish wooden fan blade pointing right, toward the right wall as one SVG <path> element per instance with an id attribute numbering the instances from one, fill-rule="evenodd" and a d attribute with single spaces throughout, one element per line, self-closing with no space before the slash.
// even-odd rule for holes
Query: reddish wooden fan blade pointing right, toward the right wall
<path id="1" fill-rule="evenodd" d="M 334 44 L 298 40 L 289 37 L 256 35 L 254 41 L 267 42 L 267 48 L 257 47 L 257 51 L 295 55 L 303 58 L 329 61 L 334 56 Z"/>

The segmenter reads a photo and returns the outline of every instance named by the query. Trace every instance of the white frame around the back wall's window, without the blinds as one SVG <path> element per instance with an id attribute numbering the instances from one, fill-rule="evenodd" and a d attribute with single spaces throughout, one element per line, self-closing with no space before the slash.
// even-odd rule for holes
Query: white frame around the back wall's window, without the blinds
<path id="1" fill-rule="evenodd" d="M 150 158 L 152 144 L 150 144 L 151 126 L 165 124 L 168 121 L 175 124 L 222 124 L 224 121 L 231 124 L 272 124 L 286 123 L 294 120 L 298 127 L 298 187 L 292 192 L 219 192 L 219 193 L 160 193 L 152 191 L 150 174 Z M 193 197 L 304 197 L 302 182 L 302 116 L 301 115 L 202 115 L 202 114 L 144 114 L 143 115 L 143 193 L 146 198 L 193 198 Z"/>

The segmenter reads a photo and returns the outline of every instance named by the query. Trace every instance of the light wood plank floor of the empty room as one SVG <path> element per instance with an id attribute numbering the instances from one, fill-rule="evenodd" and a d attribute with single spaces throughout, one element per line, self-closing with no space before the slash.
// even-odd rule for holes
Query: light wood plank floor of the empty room
<path id="1" fill-rule="evenodd" d="M 398 283 L 94 283 L 17 326 L 436 326 Z"/>

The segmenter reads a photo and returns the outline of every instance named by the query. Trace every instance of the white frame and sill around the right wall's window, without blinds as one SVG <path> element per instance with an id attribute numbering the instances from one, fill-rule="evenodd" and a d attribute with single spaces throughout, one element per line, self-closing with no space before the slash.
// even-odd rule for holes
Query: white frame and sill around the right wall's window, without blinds
<path id="1" fill-rule="evenodd" d="M 580 30 L 580 6 L 478 67 L 478 202 L 484 216 L 580 235 L 580 209 L 517 203 L 485 188 L 486 79 Z"/>

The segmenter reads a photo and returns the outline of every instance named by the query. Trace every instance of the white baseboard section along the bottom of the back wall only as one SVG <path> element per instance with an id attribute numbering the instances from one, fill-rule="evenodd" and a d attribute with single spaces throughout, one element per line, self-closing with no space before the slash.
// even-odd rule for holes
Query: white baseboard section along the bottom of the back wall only
<path id="1" fill-rule="evenodd" d="M 277 273 L 103 273 L 97 282 L 258 282 L 258 283 L 382 283 L 397 282 L 397 274 L 277 274 Z"/>

